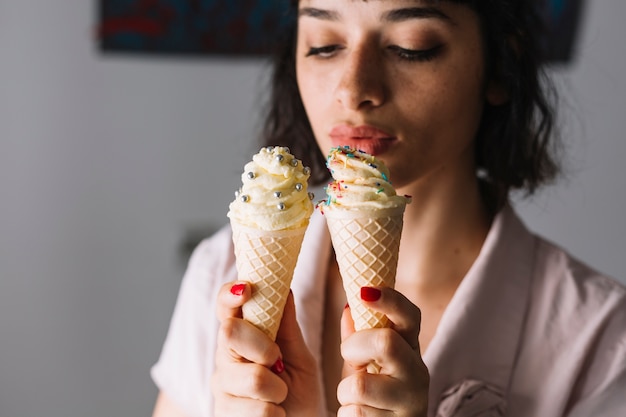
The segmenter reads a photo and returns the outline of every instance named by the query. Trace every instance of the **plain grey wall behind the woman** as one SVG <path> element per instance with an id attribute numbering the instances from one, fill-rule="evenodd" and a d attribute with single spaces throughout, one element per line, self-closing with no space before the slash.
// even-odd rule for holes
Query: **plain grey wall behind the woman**
<path id="1" fill-rule="evenodd" d="M 225 223 L 261 61 L 102 56 L 89 1 L 0 1 L 0 416 L 141 416 L 186 231 Z M 564 93 L 569 179 L 521 204 L 626 274 L 626 15 L 589 1 Z"/>

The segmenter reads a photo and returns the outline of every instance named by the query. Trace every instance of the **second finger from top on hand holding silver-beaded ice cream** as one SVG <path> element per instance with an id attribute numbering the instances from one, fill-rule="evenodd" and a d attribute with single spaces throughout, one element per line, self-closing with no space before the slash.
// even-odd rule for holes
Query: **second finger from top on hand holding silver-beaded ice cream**
<path id="1" fill-rule="evenodd" d="M 249 361 L 272 367 L 280 357 L 278 345 L 251 323 L 231 317 L 220 325 L 216 353 L 218 365 Z"/>

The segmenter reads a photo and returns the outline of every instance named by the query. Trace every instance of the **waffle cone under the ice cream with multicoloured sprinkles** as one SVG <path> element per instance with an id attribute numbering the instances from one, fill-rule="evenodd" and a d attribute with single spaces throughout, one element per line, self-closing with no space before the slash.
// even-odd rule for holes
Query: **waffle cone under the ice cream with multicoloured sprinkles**
<path id="1" fill-rule="evenodd" d="M 388 325 L 384 314 L 363 304 L 361 287 L 394 287 L 403 213 L 404 207 L 324 212 L 356 330 Z"/>

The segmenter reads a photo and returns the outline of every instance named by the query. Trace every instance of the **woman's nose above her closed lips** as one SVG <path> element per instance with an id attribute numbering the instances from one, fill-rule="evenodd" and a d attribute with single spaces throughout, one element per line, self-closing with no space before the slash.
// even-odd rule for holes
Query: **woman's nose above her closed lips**
<path id="1" fill-rule="evenodd" d="M 374 43 L 348 51 L 335 94 L 337 100 L 350 110 L 378 107 L 385 102 L 384 67 Z"/>

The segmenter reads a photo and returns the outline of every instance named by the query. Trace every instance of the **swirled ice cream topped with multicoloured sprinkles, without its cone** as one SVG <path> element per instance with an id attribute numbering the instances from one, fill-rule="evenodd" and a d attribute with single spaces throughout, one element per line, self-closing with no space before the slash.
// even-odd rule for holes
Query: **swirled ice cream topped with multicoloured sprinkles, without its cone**
<path id="1" fill-rule="evenodd" d="M 389 170 L 376 157 L 350 147 L 331 149 L 326 160 L 333 181 L 326 187 L 322 211 L 404 208 L 411 201 L 399 196 L 389 182 Z"/>

